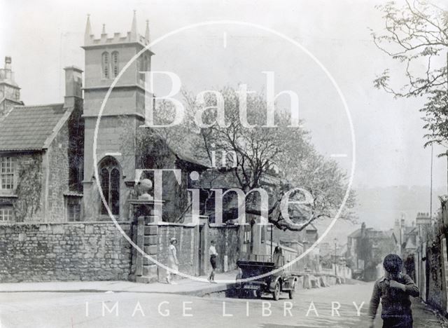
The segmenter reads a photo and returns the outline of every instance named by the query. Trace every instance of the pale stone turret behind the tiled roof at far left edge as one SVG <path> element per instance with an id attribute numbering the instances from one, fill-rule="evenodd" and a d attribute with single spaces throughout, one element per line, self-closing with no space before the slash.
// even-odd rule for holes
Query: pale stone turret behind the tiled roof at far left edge
<path id="1" fill-rule="evenodd" d="M 0 69 L 0 120 L 16 105 L 21 105 L 20 88 L 15 83 L 11 57 L 5 57 L 5 67 Z"/>

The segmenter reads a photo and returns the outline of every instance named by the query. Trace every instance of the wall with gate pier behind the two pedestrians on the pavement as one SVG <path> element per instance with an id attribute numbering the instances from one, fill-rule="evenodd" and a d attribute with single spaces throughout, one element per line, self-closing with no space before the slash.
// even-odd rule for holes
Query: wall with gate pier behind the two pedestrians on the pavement
<path id="1" fill-rule="evenodd" d="M 132 225 L 132 239 L 146 254 L 160 264 L 168 265 L 170 239 L 176 238 L 179 272 L 190 275 L 208 275 L 211 271 L 209 247 L 216 242 L 217 272 L 233 271 L 239 259 L 239 227 L 209 226 L 209 224 L 149 223 L 139 219 Z M 132 249 L 130 280 L 137 282 L 165 282 L 167 270 Z"/>

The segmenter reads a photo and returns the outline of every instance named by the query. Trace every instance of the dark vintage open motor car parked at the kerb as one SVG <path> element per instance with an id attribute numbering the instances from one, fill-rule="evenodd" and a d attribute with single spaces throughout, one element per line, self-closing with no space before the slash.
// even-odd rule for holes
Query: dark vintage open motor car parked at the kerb
<path id="1" fill-rule="evenodd" d="M 241 273 L 237 275 L 236 290 L 239 297 L 244 292 L 255 291 L 258 298 L 262 293 L 272 294 L 275 301 L 280 298 L 281 292 L 287 292 L 290 299 L 293 299 L 295 287 L 297 285 L 297 275 L 293 275 L 288 269 L 283 269 L 283 256 L 281 254 L 274 254 L 272 261 L 237 261 L 237 266 L 241 269 Z M 280 271 L 266 275 L 259 278 L 260 275 L 265 275 L 274 269 L 281 268 Z M 251 280 L 250 278 L 253 278 Z M 244 282 L 238 280 L 248 279 Z"/>

